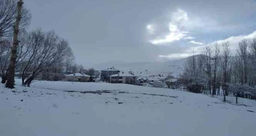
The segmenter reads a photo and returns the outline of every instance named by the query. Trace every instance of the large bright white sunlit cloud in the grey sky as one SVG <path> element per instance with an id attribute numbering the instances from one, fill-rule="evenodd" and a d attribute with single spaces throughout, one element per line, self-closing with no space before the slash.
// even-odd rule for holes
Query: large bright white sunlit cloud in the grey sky
<path id="1" fill-rule="evenodd" d="M 164 44 L 173 41 L 178 41 L 182 38 L 187 37 L 187 33 L 189 32 L 184 31 L 182 29 L 187 20 L 187 12 L 183 11 L 182 9 L 177 9 L 177 11 L 172 14 L 172 19 L 171 22 L 169 23 L 170 33 L 165 35 L 164 38 L 150 40 L 150 42 L 152 44 Z"/>

